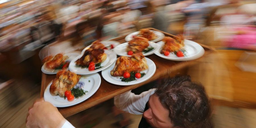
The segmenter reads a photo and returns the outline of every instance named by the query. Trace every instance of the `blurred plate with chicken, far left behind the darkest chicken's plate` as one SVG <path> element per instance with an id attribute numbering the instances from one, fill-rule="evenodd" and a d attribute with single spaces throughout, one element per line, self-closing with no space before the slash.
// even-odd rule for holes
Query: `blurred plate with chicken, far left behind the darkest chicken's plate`
<path id="1" fill-rule="evenodd" d="M 68 69 L 69 63 L 77 57 L 78 53 L 59 53 L 55 56 L 49 55 L 42 61 L 44 64 L 41 71 L 45 74 L 56 74 L 61 69 Z"/>

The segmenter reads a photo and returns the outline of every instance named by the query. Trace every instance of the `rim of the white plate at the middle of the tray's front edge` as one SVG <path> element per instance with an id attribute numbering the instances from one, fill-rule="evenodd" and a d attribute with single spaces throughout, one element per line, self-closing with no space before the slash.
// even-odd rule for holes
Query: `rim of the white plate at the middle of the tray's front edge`
<path id="1" fill-rule="evenodd" d="M 154 65 L 153 65 L 154 69 L 152 69 L 152 70 L 153 70 L 152 74 L 150 74 L 150 75 L 148 76 L 148 78 L 146 78 L 145 80 L 142 80 L 142 81 L 139 81 L 139 82 L 135 82 L 135 83 L 129 83 L 129 82 L 119 81 L 119 82 L 123 82 L 123 84 L 116 84 L 115 82 L 110 82 L 109 80 L 106 80 L 106 76 L 103 75 L 102 72 L 108 71 L 109 68 L 110 68 L 112 65 L 111 65 L 110 67 L 108 67 L 107 69 L 104 69 L 104 70 L 101 72 L 101 75 L 102 75 L 102 77 L 103 77 L 104 80 L 106 80 L 106 81 L 109 82 L 109 83 L 115 84 L 115 85 L 131 86 L 131 85 L 135 85 L 135 84 L 140 84 L 140 83 L 145 82 L 146 80 L 150 79 L 150 78 L 156 73 L 156 64 L 154 63 L 154 61 L 152 61 L 151 59 L 149 59 L 149 58 L 147 58 L 147 57 L 145 57 L 145 58 L 147 59 L 147 64 L 148 64 L 148 60 L 150 60 L 150 61 L 154 64 Z M 149 67 L 148 67 L 148 69 L 149 69 Z M 110 78 L 111 78 L 111 77 L 110 77 Z"/>

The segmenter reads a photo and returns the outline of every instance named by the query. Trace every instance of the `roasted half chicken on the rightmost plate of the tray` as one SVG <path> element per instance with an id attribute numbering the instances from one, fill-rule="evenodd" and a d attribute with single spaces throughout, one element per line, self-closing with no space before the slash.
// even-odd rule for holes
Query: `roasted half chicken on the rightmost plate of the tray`
<path id="1" fill-rule="evenodd" d="M 169 51 L 169 52 L 178 51 L 179 49 L 184 47 L 184 36 L 181 34 L 177 35 L 174 38 L 166 36 L 162 41 L 164 42 L 164 44 L 160 52 L 161 54 L 163 54 L 164 51 Z"/>

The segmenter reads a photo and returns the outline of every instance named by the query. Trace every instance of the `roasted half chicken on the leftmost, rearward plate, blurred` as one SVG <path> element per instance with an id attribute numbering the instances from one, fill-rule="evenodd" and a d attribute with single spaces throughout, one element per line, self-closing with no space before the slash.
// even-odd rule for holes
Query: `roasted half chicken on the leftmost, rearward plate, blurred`
<path id="1" fill-rule="evenodd" d="M 44 58 L 43 61 L 45 61 L 45 67 L 48 69 L 56 69 L 57 67 L 59 67 L 60 65 L 62 65 L 63 63 L 65 63 L 65 61 L 68 59 L 68 56 L 63 56 L 63 54 L 57 54 L 54 57 L 52 56 L 48 56 L 46 58 Z"/>

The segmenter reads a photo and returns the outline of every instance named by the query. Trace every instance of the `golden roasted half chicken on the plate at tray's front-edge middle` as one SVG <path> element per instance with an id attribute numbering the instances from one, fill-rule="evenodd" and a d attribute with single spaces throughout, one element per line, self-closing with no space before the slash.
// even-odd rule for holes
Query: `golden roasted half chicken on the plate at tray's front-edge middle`
<path id="1" fill-rule="evenodd" d="M 139 52 L 133 54 L 131 57 L 118 57 L 115 62 L 115 67 L 110 72 L 110 75 L 114 77 L 121 77 L 125 72 L 140 72 L 146 69 L 148 69 L 147 61 L 144 58 L 144 55 Z"/>

